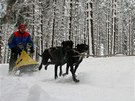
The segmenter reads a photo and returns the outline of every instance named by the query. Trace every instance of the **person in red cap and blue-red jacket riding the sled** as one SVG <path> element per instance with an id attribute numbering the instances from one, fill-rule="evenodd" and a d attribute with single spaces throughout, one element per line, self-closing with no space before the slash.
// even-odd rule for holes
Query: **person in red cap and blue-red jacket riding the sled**
<path id="1" fill-rule="evenodd" d="M 22 50 L 34 53 L 34 45 L 30 34 L 26 31 L 25 24 L 20 24 L 18 30 L 15 31 L 8 39 L 8 46 L 11 49 L 11 56 L 9 61 L 9 72 L 11 72 L 15 66 L 15 62 Z"/>

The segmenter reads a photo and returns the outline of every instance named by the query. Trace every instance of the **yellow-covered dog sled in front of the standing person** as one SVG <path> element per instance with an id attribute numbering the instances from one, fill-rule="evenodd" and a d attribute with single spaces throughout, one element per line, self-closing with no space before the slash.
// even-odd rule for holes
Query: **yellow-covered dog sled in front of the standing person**
<path id="1" fill-rule="evenodd" d="M 25 51 L 22 51 L 20 57 L 15 63 L 13 74 L 17 71 L 20 73 L 34 72 L 37 70 L 38 62 L 33 60 Z"/>

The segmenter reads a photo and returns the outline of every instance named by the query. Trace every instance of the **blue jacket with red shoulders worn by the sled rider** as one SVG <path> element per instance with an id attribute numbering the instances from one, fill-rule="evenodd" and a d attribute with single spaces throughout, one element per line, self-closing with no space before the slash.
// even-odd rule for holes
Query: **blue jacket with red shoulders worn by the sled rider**
<path id="1" fill-rule="evenodd" d="M 24 50 L 27 48 L 27 44 L 33 48 L 33 42 L 28 32 L 20 33 L 19 31 L 16 31 L 10 36 L 8 40 L 8 46 L 10 49 L 19 48 L 19 44 L 23 46 Z"/>

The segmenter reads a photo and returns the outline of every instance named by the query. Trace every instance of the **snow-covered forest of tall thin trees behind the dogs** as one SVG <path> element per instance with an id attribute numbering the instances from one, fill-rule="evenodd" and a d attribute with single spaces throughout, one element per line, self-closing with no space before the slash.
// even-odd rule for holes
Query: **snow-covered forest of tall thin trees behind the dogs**
<path id="1" fill-rule="evenodd" d="M 1 0 L 0 63 L 8 63 L 9 36 L 25 23 L 37 52 L 72 40 L 88 55 L 135 55 L 135 0 Z"/>

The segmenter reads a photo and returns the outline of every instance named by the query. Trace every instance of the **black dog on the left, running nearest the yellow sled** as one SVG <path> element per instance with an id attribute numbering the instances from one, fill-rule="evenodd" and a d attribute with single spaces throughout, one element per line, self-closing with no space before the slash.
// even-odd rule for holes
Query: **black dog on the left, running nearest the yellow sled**
<path id="1" fill-rule="evenodd" d="M 57 69 L 58 66 L 60 66 L 60 73 L 59 75 L 62 75 L 62 65 L 66 63 L 67 59 L 67 51 L 72 49 L 73 42 L 72 41 L 63 41 L 62 46 L 59 47 L 51 47 L 49 49 L 46 49 L 42 56 L 42 61 L 39 66 L 39 70 L 41 70 L 42 65 L 45 65 L 45 69 L 47 69 L 47 66 L 49 64 L 55 64 L 55 75 L 54 78 L 58 78 L 57 76 Z M 49 62 L 50 59 L 50 62 Z"/>

